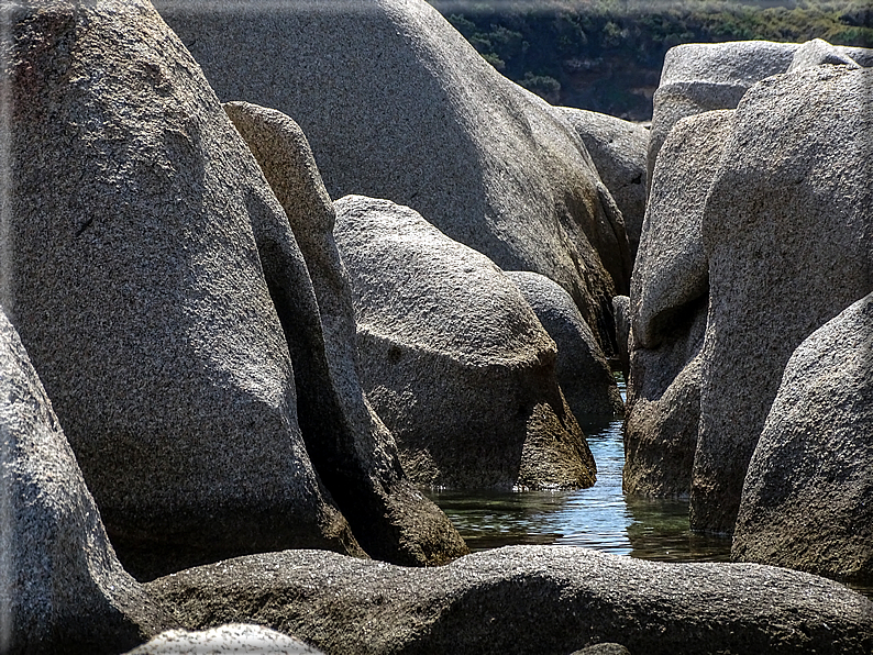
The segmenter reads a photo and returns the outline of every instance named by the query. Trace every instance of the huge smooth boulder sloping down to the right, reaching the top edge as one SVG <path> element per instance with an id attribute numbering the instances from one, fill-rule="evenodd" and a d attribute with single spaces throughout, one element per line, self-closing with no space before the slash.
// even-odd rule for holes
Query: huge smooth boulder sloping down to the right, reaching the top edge
<path id="1" fill-rule="evenodd" d="M 409 206 L 501 268 L 545 275 L 611 351 L 631 266 L 615 202 L 556 110 L 424 0 L 157 5 L 222 100 L 300 124 L 333 199 Z"/>

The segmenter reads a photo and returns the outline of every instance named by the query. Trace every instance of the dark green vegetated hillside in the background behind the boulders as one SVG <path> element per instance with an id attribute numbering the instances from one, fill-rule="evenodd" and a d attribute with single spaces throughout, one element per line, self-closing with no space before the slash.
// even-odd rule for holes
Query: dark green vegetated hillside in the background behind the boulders
<path id="1" fill-rule="evenodd" d="M 479 54 L 552 104 L 652 116 L 664 54 L 681 43 L 873 47 L 873 0 L 429 0 Z"/>

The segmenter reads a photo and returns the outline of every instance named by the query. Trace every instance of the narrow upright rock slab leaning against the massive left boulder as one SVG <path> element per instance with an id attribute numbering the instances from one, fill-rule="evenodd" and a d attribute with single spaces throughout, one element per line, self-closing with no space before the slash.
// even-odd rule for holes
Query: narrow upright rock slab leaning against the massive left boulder
<path id="1" fill-rule="evenodd" d="M 272 262 L 274 248 L 261 248 L 268 281 L 275 279 L 270 292 L 289 338 L 297 413 L 316 469 L 371 556 L 422 565 L 467 553 L 445 514 L 406 478 L 394 437 L 361 388 L 352 291 L 333 238 L 333 204 L 306 136 L 276 110 L 231 102 L 225 111 L 285 209 L 318 299 L 318 312 L 298 315 L 299 281 L 270 275 L 283 267 Z M 307 319 L 314 325 L 307 329 Z"/>

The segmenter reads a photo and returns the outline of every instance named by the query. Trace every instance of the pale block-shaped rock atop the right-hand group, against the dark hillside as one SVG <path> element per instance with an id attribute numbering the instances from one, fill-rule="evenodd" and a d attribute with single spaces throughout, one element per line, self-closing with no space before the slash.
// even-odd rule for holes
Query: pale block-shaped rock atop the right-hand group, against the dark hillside
<path id="1" fill-rule="evenodd" d="M 673 125 L 705 111 L 736 109 L 752 85 L 785 73 L 798 47 L 795 43 L 734 41 L 688 43 L 670 48 L 653 98 L 649 186 L 657 153 Z"/>

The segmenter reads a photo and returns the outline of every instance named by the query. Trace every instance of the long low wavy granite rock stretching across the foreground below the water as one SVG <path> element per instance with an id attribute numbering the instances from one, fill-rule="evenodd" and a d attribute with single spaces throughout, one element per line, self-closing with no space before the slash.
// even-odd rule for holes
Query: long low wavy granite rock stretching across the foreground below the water
<path id="1" fill-rule="evenodd" d="M 333 553 L 241 557 L 148 590 L 197 629 L 253 621 L 325 653 L 870 653 L 873 603 L 804 573 L 512 546 L 402 568 Z"/>

